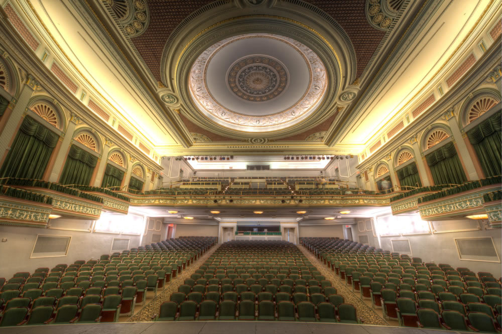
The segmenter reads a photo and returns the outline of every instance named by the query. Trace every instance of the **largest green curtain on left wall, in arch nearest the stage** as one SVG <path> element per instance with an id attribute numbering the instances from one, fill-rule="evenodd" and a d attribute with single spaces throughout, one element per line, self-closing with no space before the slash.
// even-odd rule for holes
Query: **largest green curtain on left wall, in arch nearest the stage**
<path id="1" fill-rule="evenodd" d="M 59 136 L 26 117 L 7 154 L 0 177 L 41 179 Z"/>

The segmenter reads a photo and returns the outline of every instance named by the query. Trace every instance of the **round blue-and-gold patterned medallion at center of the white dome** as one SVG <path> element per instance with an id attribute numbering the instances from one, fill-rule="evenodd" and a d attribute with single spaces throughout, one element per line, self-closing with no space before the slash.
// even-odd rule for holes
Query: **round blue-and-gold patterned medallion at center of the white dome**
<path id="1" fill-rule="evenodd" d="M 228 69 L 228 88 L 247 101 L 267 101 L 288 85 L 286 67 L 277 59 L 261 55 L 244 57 Z"/>

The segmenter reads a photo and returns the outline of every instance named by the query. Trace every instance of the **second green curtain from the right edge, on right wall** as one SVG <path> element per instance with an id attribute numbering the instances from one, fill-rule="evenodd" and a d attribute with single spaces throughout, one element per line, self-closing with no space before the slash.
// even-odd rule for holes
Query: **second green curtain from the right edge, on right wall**
<path id="1" fill-rule="evenodd" d="M 467 181 L 452 142 L 425 156 L 434 184 L 462 184 Z"/>

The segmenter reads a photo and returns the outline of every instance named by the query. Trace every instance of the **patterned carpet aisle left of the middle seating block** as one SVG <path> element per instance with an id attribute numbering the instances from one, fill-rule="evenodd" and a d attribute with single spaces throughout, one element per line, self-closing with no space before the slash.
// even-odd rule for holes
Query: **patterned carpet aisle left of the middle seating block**
<path id="1" fill-rule="evenodd" d="M 192 263 L 188 268 L 186 268 L 181 274 L 177 275 L 174 280 L 170 282 L 169 285 L 162 290 L 161 293 L 152 299 L 148 304 L 146 304 L 139 312 L 130 317 L 127 321 L 137 322 L 137 321 L 152 321 L 152 316 L 159 313 L 160 305 L 169 300 L 171 293 L 177 292 L 180 285 L 183 284 L 185 279 L 190 278 L 190 276 L 197 270 L 206 260 L 213 254 L 221 244 L 216 244 L 214 247 L 209 249 L 203 256 L 199 257 L 197 261 Z"/>

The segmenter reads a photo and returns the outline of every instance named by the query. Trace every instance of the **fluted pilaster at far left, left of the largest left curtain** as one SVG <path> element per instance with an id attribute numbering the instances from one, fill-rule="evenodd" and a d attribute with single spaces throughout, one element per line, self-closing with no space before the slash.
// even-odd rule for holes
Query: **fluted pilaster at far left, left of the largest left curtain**
<path id="1" fill-rule="evenodd" d="M 5 154 L 7 153 L 6 150 L 8 149 L 11 139 L 15 135 L 21 119 L 23 118 L 23 114 L 28 107 L 28 102 L 30 101 L 33 91 L 38 86 L 38 82 L 36 82 L 31 75 L 28 75 L 25 84 L 21 88 L 19 98 L 12 109 L 11 115 L 9 115 L 9 119 L 7 120 L 4 129 L 2 130 L 2 133 L 0 133 L 0 157 L 5 157 Z M 11 101 L 11 103 L 13 103 L 13 101 Z"/>

